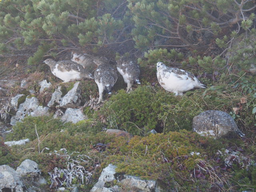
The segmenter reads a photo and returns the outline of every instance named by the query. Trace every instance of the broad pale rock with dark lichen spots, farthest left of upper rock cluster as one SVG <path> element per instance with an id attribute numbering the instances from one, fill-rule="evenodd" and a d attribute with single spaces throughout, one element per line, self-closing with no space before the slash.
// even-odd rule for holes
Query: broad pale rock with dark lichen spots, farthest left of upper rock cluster
<path id="1" fill-rule="evenodd" d="M 21 121 L 25 116 L 43 116 L 48 114 L 48 107 L 39 106 L 38 99 L 35 97 L 26 98 L 25 102 L 20 104 L 15 116 L 11 118 L 11 125 Z"/>

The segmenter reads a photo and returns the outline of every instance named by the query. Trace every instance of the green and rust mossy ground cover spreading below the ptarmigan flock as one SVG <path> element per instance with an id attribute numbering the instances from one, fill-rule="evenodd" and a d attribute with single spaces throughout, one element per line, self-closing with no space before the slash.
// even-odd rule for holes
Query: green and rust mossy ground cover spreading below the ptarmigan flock
<path id="1" fill-rule="evenodd" d="M 104 96 L 102 108 L 98 111 L 84 108 L 90 119 L 77 124 L 64 124 L 52 116 L 24 118 L 13 126 L 7 140 L 29 138 L 31 142 L 12 147 L 0 143 L 0 162 L 15 168 L 18 162 L 29 158 L 38 162 L 47 178 L 54 167 L 66 166 L 66 158 L 55 154 L 55 150 L 66 148 L 68 154 L 75 151 L 86 154 L 92 159 L 87 169 L 95 168 L 96 164 L 101 166 L 95 170 L 91 184 L 81 185 L 80 190 L 84 192 L 90 191 L 109 163 L 116 164 L 120 173 L 161 181 L 167 190 L 236 192 L 256 188 L 253 163 L 248 170 L 238 162 L 226 166 L 225 157 L 217 154 L 219 150 L 228 149 L 252 162 L 256 160 L 256 125 L 252 113 L 256 103 L 254 76 L 220 75 L 217 82 L 202 78 L 208 88 L 191 90 L 184 96 L 174 96 L 161 88 L 154 67 L 143 67 L 141 76 L 142 85 L 134 85 L 128 94 L 126 84 L 119 77 L 113 94 Z M 55 82 L 45 92 L 52 93 L 60 85 L 66 93 L 74 82 Z M 90 96 L 98 97 L 93 80 L 82 80 L 80 85 L 83 102 Z M 42 95 L 40 101 L 47 103 L 46 96 Z M 238 108 L 238 112 L 233 108 Z M 193 117 L 205 110 L 227 112 L 247 138 L 242 140 L 232 135 L 214 140 L 192 132 Z M 135 136 L 127 141 L 106 135 L 103 128 L 126 130 Z M 149 134 L 152 129 L 158 134 Z M 93 147 L 97 143 L 108 144 L 108 147 L 100 152 Z M 191 155 L 191 152 L 200 154 Z"/>

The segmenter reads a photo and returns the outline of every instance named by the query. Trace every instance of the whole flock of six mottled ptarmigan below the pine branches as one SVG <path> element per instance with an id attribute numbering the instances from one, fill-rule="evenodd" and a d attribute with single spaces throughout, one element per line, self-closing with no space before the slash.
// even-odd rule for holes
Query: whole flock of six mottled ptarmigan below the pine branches
<path id="1" fill-rule="evenodd" d="M 97 65 L 94 76 L 86 70 L 91 63 Z M 64 82 L 72 80 L 82 80 L 84 78 L 94 79 L 99 89 L 98 103 L 102 102 L 102 94 L 104 90 L 111 94 L 112 87 L 117 81 L 117 71 L 124 78 L 127 84 L 126 93 L 132 90 L 132 84 L 136 82 L 140 84 L 140 68 L 138 64 L 127 57 L 121 57 L 116 61 L 116 68 L 110 65 L 105 57 L 93 57 L 88 54 L 72 53 L 71 60 L 54 61 L 46 59 L 45 64 L 50 66 L 50 70 L 54 76 L 60 78 Z M 156 64 L 157 78 L 160 85 L 168 92 L 173 92 L 176 96 L 183 95 L 183 92 L 193 88 L 206 88 L 194 74 L 178 68 L 171 68 L 158 62 Z M 193 119 L 193 130 L 203 136 L 212 136 L 220 138 L 235 132 L 241 137 L 244 134 L 238 129 L 233 118 L 226 112 L 208 110 L 202 112 Z"/>

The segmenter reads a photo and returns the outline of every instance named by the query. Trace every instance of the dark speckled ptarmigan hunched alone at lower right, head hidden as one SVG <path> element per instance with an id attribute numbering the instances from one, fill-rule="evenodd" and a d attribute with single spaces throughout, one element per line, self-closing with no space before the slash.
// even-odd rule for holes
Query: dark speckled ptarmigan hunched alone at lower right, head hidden
<path id="1" fill-rule="evenodd" d="M 234 119 L 223 111 L 208 110 L 193 118 L 193 130 L 202 136 L 221 138 L 235 132 L 241 137 L 244 134 L 238 129 Z"/>

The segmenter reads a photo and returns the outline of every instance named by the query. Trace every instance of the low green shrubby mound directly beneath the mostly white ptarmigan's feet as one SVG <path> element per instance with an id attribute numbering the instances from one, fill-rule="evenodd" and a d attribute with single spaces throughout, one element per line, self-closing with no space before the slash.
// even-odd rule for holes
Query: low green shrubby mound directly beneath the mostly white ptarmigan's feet
<path id="1" fill-rule="evenodd" d="M 243 94 L 230 86 L 211 86 L 174 96 L 162 88 L 139 86 L 126 94 L 120 90 L 95 114 L 104 116 L 108 128 L 119 128 L 136 135 L 192 130 L 192 119 L 205 110 L 231 112 Z M 244 109 L 246 111 L 246 109 Z"/>

